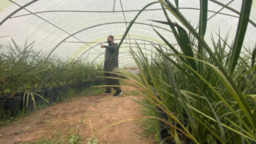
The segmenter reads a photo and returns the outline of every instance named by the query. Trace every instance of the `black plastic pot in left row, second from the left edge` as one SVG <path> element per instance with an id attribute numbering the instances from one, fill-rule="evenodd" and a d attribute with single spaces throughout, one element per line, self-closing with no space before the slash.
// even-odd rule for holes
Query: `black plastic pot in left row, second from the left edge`
<path id="1" fill-rule="evenodd" d="M 22 94 L 15 94 L 13 97 L 6 97 L 4 106 L 5 111 L 10 111 L 11 117 L 16 117 L 18 111 L 20 111 Z"/>

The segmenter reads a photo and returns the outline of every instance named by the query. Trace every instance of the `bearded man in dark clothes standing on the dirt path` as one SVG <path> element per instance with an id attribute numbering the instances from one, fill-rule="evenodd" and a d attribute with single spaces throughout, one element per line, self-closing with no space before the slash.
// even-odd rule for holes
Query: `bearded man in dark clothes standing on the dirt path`
<path id="1" fill-rule="evenodd" d="M 103 44 L 100 46 L 101 48 L 106 48 L 105 61 L 104 61 L 104 77 L 117 77 L 116 74 L 105 73 L 105 71 L 112 72 L 114 67 L 118 67 L 118 51 L 119 51 L 119 50 L 117 50 L 118 44 L 114 43 L 113 35 L 108 35 L 107 41 L 108 41 L 108 46 L 103 45 Z M 116 50 L 117 50 L 117 52 L 116 52 Z M 115 52 L 116 52 L 116 55 L 111 60 L 111 58 Z M 120 85 L 119 81 L 117 79 L 104 78 L 104 81 L 105 81 L 105 85 L 117 85 L 117 86 Z M 106 88 L 106 90 L 103 92 L 103 94 L 104 95 L 111 94 L 111 87 L 106 86 L 105 88 Z M 117 97 L 122 94 L 120 87 L 113 86 L 113 88 L 114 88 L 114 90 L 116 90 L 116 93 L 113 95 L 113 97 Z"/>

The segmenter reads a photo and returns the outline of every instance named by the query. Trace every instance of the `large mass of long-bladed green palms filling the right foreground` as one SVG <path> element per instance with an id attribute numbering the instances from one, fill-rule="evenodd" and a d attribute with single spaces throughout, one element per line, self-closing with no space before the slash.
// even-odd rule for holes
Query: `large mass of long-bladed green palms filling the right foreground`
<path id="1" fill-rule="evenodd" d="M 137 45 L 140 54 L 135 54 L 133 50 L 131 54 L 141 77 L 123 69 L 116 69 L 116 72 L 135 81 L 146 92 L 144 96 L 167 114 L 167 125 L 175 141 L 179 141 L 178 131 L 194 143 L 256 141 L 255 50 L 251 58 L 244 58 L 240 54 L 252 1 L 242 2 L 234 43 L 229 46 L 226 43 L 228 36 L 224 39 L 217 36 L 212 39 L 213 47 L 203 39 L 207 26 L 207 1 L 200 1 L 198 31 L 179 11 L 179 1 L 175 1 L 175 5 L 168 0 L 159 2 L 167 19 L 167 22 L 160 23 L 171 28 L 181 52 L 155 30 L 173 53 L 164 52 L 160 45 L 153 45 L 158 57 L 152 60 L 154 63 L 150 63 Z M 171 22 L 166 10 L 184 27 Z M 123 39 L 139 14 L 130 23 Z M 217 41 L 214 40 L 216 38 Z M 194 45 L 195 42 L 198 45 Z M 225 48 L 230 50 L 226 51 Z M 189 123 L 187 126 L 186 120 Z"/>

